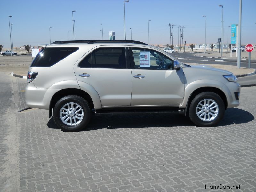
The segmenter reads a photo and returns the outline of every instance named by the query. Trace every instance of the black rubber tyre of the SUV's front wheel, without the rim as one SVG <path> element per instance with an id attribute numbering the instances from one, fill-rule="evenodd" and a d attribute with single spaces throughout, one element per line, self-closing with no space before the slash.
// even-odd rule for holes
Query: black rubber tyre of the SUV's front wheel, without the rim
<path id="1" fill-rule="evenodd" d="M 201 120 L 197 115 L 196 115 L 196 106 L 198 103 L 204 99 L 211 99 L 214 100 L 218 107 L 219 107 L 219 112 L 218 115 L 215 119 L 212 121 L 203 121 Z M 196 124 L 197 126 L 200 127 L 211 127 L 220 122 L 220 120 L 223 118 L 225 112 L 225 105 L 221 97 L 214 93 L 214 92 L 202 92 L 196 95 L 196 97 L 192 100 L 190 107 L 189 107 L 189 118 L 190 120 Z"/>

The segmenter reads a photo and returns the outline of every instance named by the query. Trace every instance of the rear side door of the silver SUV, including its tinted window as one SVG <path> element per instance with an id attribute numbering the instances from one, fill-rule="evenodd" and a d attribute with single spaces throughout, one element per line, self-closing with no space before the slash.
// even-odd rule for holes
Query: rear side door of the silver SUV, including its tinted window
<path id="1" fill-rule="evenodd" d="M 127 49 L 127 46 L 100 47 L 74 66 L 79 86 L 91 85 L 98 92 L 102 106 L 131 104 L 132 77 L 127 66 Z"/>

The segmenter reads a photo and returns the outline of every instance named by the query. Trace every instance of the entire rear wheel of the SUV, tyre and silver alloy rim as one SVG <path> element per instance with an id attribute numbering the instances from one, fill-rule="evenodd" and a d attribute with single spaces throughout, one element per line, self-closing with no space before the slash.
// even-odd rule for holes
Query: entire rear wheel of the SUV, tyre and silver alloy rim
<path id="1" fill-rule="evenodd" d="M 63 131 L 80 131 L 86 127 L 90 118 L 91 110 L 88 102 L 77 95 L 62 97 L 53 109 L 53 120 Z"/>

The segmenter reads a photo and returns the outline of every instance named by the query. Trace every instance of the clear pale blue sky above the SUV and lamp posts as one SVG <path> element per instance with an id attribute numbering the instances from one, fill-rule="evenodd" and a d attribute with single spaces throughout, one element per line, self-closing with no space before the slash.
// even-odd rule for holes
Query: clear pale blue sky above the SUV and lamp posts
<path id="1" fill-rule="evenodd" d="M 115 31 L 116 40 L 124 39 L 124 0 L 0 0 L 0 44 L 10 46 L 9 20 L 12 25 L 13 46 L 37 46 L 51 42 L 73 40 L 72 11 L 76 40 L 109 39 Z M 130 0 L 125 3 L 126 39 L 169 44 L 173 27 L 173 44 L 178 43 L 178 26 L 183 28 L 183 42 L 204 44 L 206 15 L 206 44 L 221 38 L 221 7 L 223 5 L 223 43 L 230 43 L 230 26 L 238 23 L 239 0 Z M 242 1 L 242 44 L 256 44 L 256 0 Z M 148 20 L 151 20 L 148 22 Z M 227 33 L 228 32 L 228 33 Z M 180 36 L 180 34 L 179 34 Z M 172 44 L 172 43 L 171 43 Z M 4 50 L 3 48 L 3 50 Z"/>

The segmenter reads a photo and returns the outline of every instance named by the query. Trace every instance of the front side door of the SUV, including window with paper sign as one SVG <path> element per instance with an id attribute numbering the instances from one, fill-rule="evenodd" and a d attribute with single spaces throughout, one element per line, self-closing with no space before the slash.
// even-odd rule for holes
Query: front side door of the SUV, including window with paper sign
<path id="1" fill-rule="evenodd" d="M 153 49 L 132 47 L 131 52 L 131 105 L 179 105 L 185 87 L 182 68 L 173 70 L 173 60 Z"/>

